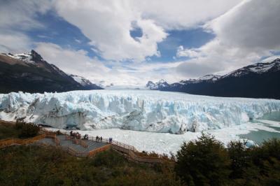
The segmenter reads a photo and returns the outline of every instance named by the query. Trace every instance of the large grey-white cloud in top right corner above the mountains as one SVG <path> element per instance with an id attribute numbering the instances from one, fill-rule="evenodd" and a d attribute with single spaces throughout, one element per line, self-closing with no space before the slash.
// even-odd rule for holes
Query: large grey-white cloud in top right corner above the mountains
<path id="1" fill-rule="evenodd" d="M 204 28 L 216 38 L 200 48 L 179 47 L 177 56 L 197 58 L 179 65 L 177 71 L 188 78 L 206 72 L 223 74 L 273 55 L 280 50 L 279 8 L 280 2 L 274 0 L 242 1 L 211 20 Z"/>

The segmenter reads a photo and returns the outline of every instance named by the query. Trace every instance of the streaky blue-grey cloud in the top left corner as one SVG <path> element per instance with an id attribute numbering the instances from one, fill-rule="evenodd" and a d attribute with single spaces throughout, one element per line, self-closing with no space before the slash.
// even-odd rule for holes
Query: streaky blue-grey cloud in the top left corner
<path id="1" fill-rule="evenodd" d="M 27 52 L 32 39 L 24 31 L 43 29 L 44 25 L 35 18 L 46 13 L 50 1 L 3 1 L 0 6 L 0 52 Z"/>

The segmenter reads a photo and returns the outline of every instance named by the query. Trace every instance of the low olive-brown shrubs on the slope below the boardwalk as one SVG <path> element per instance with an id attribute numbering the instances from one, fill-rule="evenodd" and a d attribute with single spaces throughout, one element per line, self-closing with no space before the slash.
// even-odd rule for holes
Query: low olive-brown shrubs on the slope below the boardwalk
<path id="1" fill-rule="evenodd" d="M 181 185 L 165 166 L 128 162 L 113 150 L 76 158 L 52 147 L 15 146 L 0 159 L 0 185 Z"/>

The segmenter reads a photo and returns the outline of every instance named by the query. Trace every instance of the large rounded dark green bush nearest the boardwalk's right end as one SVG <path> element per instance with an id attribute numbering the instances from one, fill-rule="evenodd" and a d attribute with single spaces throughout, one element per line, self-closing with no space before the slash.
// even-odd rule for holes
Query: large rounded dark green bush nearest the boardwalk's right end
<path id="1" fill-rule="evenodd" d="M 225 185 L 230 174 L 230 159 L 223 144 L 214 136 L 183 143 L 176 155 L 175 171 L 187 185 Z"/>

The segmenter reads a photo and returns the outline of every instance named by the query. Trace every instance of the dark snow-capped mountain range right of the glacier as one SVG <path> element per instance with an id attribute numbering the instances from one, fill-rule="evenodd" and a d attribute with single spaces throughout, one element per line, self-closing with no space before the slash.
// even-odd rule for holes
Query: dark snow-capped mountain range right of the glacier
<path id="1" fill-rule="evenodd" d="M 207 75 L 172 84 L 165 80 L 149 81 L 146 87 L 208 96 L 280 99 L 280 59 L 245 66 L 224 76 Z"/>

